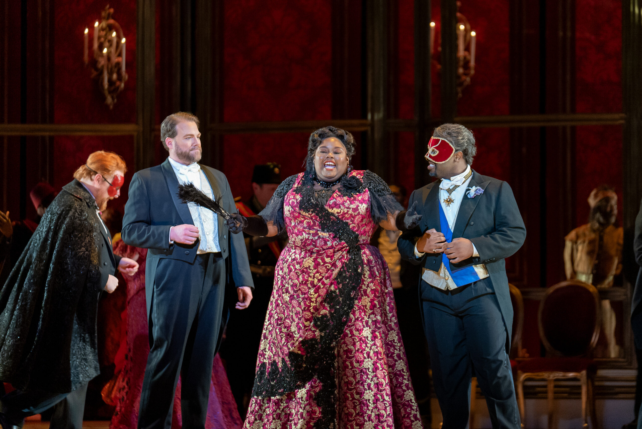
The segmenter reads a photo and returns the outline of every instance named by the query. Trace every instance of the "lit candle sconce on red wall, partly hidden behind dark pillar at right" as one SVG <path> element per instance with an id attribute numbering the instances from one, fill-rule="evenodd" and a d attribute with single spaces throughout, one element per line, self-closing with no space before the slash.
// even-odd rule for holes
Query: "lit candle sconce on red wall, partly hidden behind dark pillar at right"
<path id="1" fill-rule="evenodd" d="M 459 12 L 460 2 L 457 2 L 457 96 L 462 98 L 462 91 L 471 84 L 471 77 L 475 74 L 475 49 L 477 33 L 471 31 L 471 24 Z M 430 55 L 435 62 L 437 70 L 441 70 L 441 40 L 435 53 L 435 22 L 430 22 L 430 39 L 428 40 Z"/>

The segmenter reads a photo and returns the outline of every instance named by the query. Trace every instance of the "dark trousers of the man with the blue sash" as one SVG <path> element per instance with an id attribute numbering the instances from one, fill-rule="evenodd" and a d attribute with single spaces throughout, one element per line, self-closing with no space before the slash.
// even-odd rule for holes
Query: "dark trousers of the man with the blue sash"
<path id="1" fill-rule="evenodd" d="M 507 330 L 491 286 L 490 278 L 452 291 L 422 284 L 422 316 L 442 429 L 467 428 L 473 369 L 492 427 L 520 427 Z"/>

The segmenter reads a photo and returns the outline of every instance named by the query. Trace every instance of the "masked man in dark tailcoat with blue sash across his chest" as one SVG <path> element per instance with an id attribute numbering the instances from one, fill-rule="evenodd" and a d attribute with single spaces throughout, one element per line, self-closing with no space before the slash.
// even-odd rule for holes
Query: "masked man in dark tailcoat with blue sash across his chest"
<path id="1" fill-rule="evenodd" d="M 418 202 L 422 220 L 397 245 L 404 259 L 423 267 L 421 311 L 442 429 L 467 427 L 473 371 L 492 427 L 517 429 L 504 259 L 524 243 L 526 228 L 507 182 L 471 169 L 476 153 L 471 130 L 435 128 L 426 159 L 440 180 L 413 191 L 408 204 Z"/>

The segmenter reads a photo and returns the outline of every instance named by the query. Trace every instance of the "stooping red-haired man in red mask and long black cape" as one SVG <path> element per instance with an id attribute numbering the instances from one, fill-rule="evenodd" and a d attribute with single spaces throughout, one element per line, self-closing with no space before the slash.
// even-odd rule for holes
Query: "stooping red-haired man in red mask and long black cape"
<path id="1" fill-rule="evenodd" d="M 55 405 L 51 428 L 82 428 L 89 380 L 99 374 L 96 313 L 102 290 L 114 292 L 116 269 L 138 263 L 112 253 L 100 220 L 123 185 L 125 161 L 94 152 L 44 214 L 0 292 L 3 429 Z"/>

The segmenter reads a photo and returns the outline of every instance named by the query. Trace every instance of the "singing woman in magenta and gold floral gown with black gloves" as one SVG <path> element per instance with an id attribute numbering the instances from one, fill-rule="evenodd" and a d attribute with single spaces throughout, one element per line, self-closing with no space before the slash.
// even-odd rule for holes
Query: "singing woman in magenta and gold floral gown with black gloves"
<path id="1" fill-rule="evenodd" d="M 418 219 L 377 175 L 351 171 L 353 153 L 350 133 L 317 130 L 306 171 L 286 179 L 259 216 L 228 221 L 232 232 L 287 229 L 290 238 L 245 428 L 422 428 L 388 267 L 369 244 L 377 225 Z"/>

